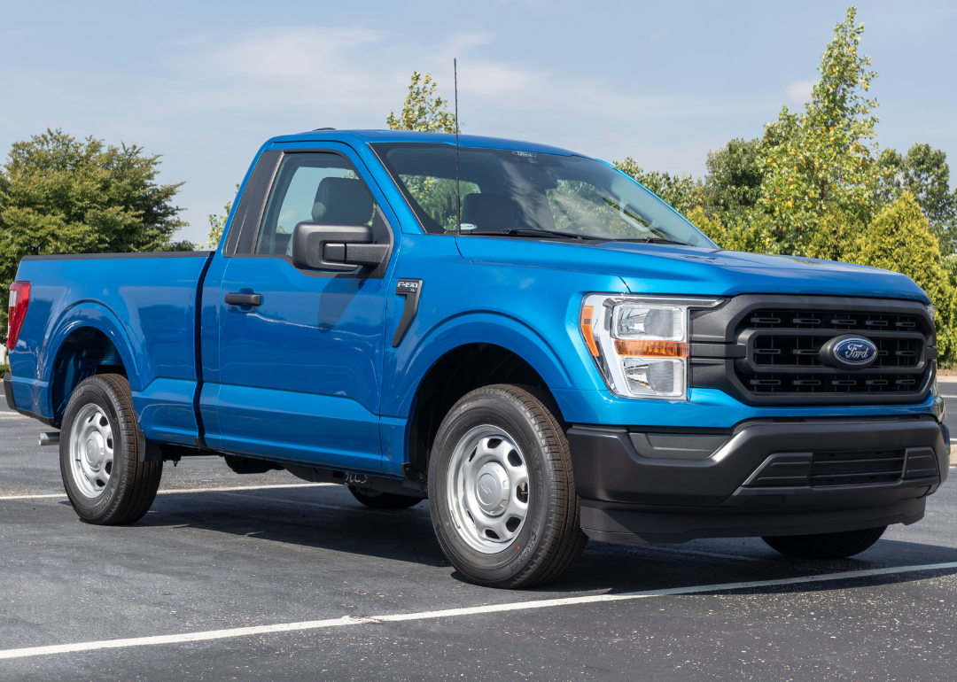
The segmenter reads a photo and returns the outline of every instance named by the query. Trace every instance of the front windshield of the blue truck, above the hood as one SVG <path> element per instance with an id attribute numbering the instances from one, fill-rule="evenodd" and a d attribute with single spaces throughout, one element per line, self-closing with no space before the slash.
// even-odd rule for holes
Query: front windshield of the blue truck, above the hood
<path id="1" fill-rule="evenodd" d="M 372 144 L 427 232 L 456 231 L 456 147 Z M 462 234 L 714 244 L 650 191 L 580 156 L 461 147 Z"/>

